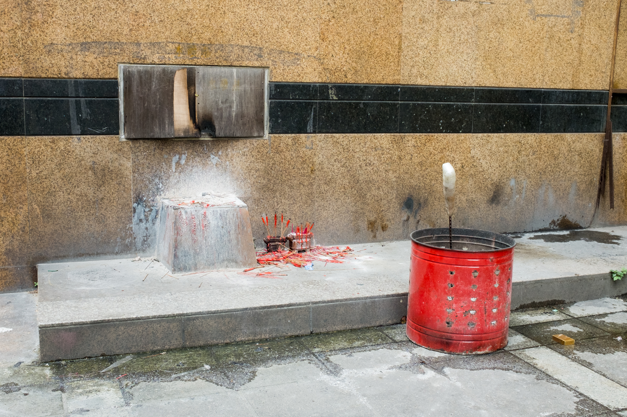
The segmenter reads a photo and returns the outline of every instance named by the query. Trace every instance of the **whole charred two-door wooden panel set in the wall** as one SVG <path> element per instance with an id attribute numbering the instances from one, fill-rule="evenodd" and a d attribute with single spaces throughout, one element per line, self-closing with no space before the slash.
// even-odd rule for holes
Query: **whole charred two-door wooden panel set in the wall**
<path id="1" fill-rule="evenodd" d="M 126 139 L 260 137 L 265 134 L 266 70 L 122 65 Z"/>

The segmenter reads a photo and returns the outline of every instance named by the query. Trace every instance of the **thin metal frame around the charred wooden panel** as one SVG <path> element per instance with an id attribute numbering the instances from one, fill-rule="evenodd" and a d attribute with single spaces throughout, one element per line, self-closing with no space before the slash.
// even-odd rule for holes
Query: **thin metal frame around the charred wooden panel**
<path id="1" fill-rule="evenodd" d="M 133 63 L 119 63 L 118 64 L 118 100 L 120 106 L 120 142 L 129 141 L 129 140 L 137 140 L 137 139 L 127 139 L 124 137 L 124 76 L 122 75 L 122 69 L 124 66 L 170 66 L 175 68 L 181 67 L 203 67 L 203 68 L 254 68 L 256 70 L 264 70 L 265 81 L 263 85 L 263 110 L 264 110 L 264 127 L 263 136 L 253 136 L 253 137 L 236 137 L 236 138 L 228 138 L 228 137 L 214 137 L 214 136 L 205 136 L 201 135 L 199 138 L 151 138 L 150 140 L 220 140 L 220 139 L 267 139 L 268 138 L 268 129 L 270 127 L 270 118 L 269 118 L 269 103 L 270 103 L 270 91 L 268 90 L 268 73 L 270 68 L 268 67 L 251 67 L 251 66 L 223 66 L 223 65 L 171 65 L 171 64 L 133 64 Z"/>

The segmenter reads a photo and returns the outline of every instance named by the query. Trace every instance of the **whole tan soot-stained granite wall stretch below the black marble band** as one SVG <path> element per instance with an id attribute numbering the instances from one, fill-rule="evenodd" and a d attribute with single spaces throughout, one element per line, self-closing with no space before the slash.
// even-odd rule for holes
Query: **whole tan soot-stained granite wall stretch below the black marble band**
<path id="1" fill-rule="evenodd" d="M 614 158 L 627 156 L 615 135 Z M 162 195 L 234 191 L 260 214 L 314 221 L 320 244 L 404 239 L 442 227 L 441 163 L 458 172 L 453 225 L 520 232 L 587 226 L 602 134 L 273 135 L 270 140 L 137 140 L 117 136 L 0 138 L 0 291 L 31 287 L 55 259 L 149 255 Z M 624 223 L 626 172 L 616 209 Z"/>

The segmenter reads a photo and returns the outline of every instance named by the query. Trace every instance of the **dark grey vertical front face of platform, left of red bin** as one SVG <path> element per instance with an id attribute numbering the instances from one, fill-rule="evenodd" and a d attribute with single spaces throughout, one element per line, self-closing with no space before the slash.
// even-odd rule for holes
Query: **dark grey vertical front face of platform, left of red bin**
<path id="1" fill-rule="evenodd" d="M 40 327 L 40 359 L 90 358 L 384 326 L 401 322 L 407 296 L 161 319 Z"/>

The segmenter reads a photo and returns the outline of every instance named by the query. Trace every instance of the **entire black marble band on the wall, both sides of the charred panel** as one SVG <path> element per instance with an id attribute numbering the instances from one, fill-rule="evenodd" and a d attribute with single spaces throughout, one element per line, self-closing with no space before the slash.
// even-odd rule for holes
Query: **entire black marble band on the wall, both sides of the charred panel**
<path id="1" fill-rule="evenodd" d="M 117 135 L 117 80 L 0 78 L 0 135 Z M 608 91 L 270 83 L 270 133 L 582 133 Z M 627 95 L 612 100 L 627 131 Z"/>

